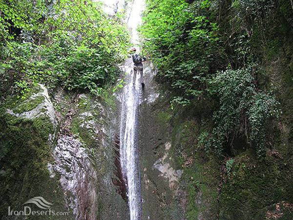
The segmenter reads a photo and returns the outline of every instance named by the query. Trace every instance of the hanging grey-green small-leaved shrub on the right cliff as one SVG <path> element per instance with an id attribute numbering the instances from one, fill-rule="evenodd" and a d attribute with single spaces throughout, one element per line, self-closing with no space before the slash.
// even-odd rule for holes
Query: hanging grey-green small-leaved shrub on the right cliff
<path id="1" fill-rule="evenodd" d="M 271 95 L 257 90 L 252 71 L 253 68 L 227 70 L 212 79 L 220 106 L 213 117 L 215 127 L 206 150 L 213 149 L 221 154 L 224 142 L 242 133 L 247 142 L 254 143 L 259 157 L 265 155 L 266 122 L 271 116 L 278 115 L 278 102 Z"/>

